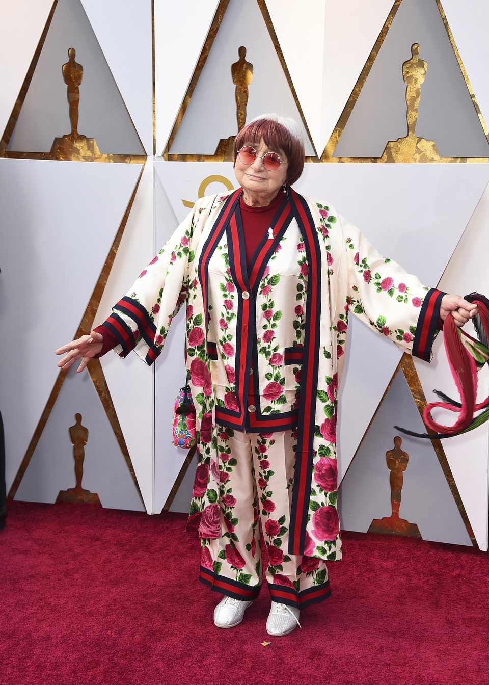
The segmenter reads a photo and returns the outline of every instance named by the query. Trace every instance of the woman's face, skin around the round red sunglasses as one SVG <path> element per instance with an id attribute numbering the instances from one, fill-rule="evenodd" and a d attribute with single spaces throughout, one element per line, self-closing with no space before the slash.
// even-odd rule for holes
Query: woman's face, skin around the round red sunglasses
<path id="1" fill-rule="evenodd" d="M 280 164 L 279 168 L 275 171 L 269 171 L 263 166 L 262 156 L 266 152 L 276 152 L 280 157 L 280 161 L 286 162 L 286 155 L 281 150 L 269 149 L 263 140 L 250 140 L 245 145 L 250 145 L 255 149 L 257 158 L 253 164 L 243 164 L 239 156 L 236 157 L 236 164 L 234 166 L 236 180 L 248 192 L 274 197 L 277 195 L 279 188 L 286 182 L 288 165 L 287 163 Z"/>

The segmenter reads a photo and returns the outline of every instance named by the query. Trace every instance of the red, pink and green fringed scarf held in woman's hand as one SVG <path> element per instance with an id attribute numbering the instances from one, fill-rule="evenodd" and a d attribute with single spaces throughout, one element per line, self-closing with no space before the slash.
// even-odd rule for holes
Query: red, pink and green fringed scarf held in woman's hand
<path id="1" fill-rule="evenodd" d="M 429 403 L 423 412 L 423 418 L 427 427 L 436 433 L 420 434 L 394 426 L 405 434 L 431 440 L 449 438 L 473 430 L 489 419 L 489 397 L 483 402 L 476 402 L 477 372 L 484 364 L 489 364 L 489 299 L 477 292 L 466 295 L 465 299 L 477 303 L 479 309 L 478 314 L 473 319 L 478 340 L 457 328 L 453 316 L 447 316 L 443 325 L 445 352 L 461 402 L 451 399 L 440 390 L 434 390 L 435 395 L 438 395 L 443 401 Z M 435 408 L 458 412 L 457 421 L 451 426 L 434 421 L 431 411 Z M 478 411 L 481 411 L 481 414 L 474 416 L 474 413 Z"/>

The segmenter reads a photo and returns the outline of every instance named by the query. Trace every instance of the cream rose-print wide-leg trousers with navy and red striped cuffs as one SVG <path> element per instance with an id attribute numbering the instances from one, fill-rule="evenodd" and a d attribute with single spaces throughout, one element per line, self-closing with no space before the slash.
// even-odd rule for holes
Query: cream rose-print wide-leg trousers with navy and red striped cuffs
<path id="1" fill-rule="evenodd" d="M 294 482 L 296 432 L 218 433 L 221 516 L 227 533 L 202 538 L 200 580 L 236 599 L 255 599 L 262 586 L 260 526 L 266 542 L 264 571 L 273 601 L 303 608 L 331 594 L 325 562 L 287 553 Z"/>

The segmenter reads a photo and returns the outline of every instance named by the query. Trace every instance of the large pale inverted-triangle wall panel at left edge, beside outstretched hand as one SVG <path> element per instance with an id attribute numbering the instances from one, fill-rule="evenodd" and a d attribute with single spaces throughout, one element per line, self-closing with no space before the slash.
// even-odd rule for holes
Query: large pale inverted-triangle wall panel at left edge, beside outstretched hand
<path id="1" fill-rule="evenodd" d="M 0 160 L 1 412 L 7 488 L 58 377 L 140 172 L 138 164 Z M 75 198 L 75 203 L 74 203 Z"/>

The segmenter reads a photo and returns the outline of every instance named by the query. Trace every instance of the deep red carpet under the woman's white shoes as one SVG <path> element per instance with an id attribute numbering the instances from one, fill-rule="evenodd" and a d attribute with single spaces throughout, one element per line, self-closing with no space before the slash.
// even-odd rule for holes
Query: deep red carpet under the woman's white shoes
<path id="1" fill-rule="evenodd" d="M 489 682 L 487 553 L 345 533 L 332 597 L 272 638 L 265 587 L 240 626 L 214 627 L 185 518 L 10 503 L 1 684 Z"/>

